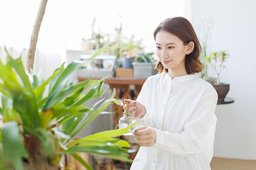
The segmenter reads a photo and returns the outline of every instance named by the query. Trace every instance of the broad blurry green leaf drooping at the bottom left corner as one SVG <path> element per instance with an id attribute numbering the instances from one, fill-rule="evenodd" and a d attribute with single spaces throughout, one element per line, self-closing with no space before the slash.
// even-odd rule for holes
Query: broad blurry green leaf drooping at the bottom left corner
<path id="1" fill-rule="evenodd" d="M 29 155 L 21 142 L 17 122 L 3 124 L 2 140 L 4 158 L 9 159 L 16 170 L 22 170 L 22 158 L 28 158 Z"/>

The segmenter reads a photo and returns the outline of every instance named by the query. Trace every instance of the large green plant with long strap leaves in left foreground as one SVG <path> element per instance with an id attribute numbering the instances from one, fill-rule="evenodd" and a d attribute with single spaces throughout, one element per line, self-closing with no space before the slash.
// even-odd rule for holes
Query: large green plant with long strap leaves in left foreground
<path id="1" fill-rule="evenodd" d="M 101 48 L 90 59 L 102 51 Z M 7 51 L 6 51 L 7 52 Z M 128 133 L 128 128 L 109 130 L 69 142 L 96 116 L 104 113 L 115 92 L 104 102 L 102 100 L 86 107 L 86 103 L 102 96 L 104 78 L 84 82 L 68 81 L 70 73 L 83 62 L 72 62 L 57 68 L 47 80 L 39 80 L 40 73 L 32 70 L 26 73 L 21 57 L 13 59 L 7 52 L 7 63 L 0 61 L 0 92 L 2 108 L 0 114 L 0 170 L 57 170 L 61 156 L 71 154 L 88 170 L 91 167 L 76 153 L 99 154 L 118 160 L 130 161 L 127 149 L 130 144 L 118 138 Z M 43 96 L 49 85 L 48 96 Z M 89 88 L 87 94 L 82 91 Z M 101 103 L 101 104 L 100 104 Z M 95 108 L 99 105 L 98 108 Z"/>

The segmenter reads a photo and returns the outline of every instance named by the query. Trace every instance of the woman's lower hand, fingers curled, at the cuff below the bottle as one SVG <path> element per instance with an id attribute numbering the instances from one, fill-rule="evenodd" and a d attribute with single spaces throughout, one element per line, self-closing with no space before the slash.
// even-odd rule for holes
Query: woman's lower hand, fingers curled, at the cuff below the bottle
<path id="1" fill-rule="evenodd" d="M 143 126 L 135 130 L 134 137 L 140 146 L 153 146 L 156 142 L 157 134 L 152 127 Z"/>

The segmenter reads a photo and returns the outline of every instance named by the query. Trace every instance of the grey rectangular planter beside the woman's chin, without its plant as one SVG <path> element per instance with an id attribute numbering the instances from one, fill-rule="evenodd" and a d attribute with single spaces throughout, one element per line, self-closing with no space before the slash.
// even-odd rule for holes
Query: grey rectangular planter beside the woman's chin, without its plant
<path id="1" fill-rule="evenodd" d="M 132 65 L 135 79 L 147 79 L 157 74 L 157 70 L 154 69 L 154 62 L 132 62 Z"/>

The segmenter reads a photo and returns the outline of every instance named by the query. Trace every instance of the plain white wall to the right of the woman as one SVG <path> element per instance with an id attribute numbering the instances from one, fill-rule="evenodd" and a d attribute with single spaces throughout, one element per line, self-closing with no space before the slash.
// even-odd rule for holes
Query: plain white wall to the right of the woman
<path id="1" fill-rule="evenodd" d="M 221 72 L 230 83 L 228 97 L 235 103 L 218 105 L 214 156 L 256 160 L 256 1 L 193 0 L 192 24 L 196 28 L 212 17 L 212 50 L 229 50 L 232 58 Z"/>

